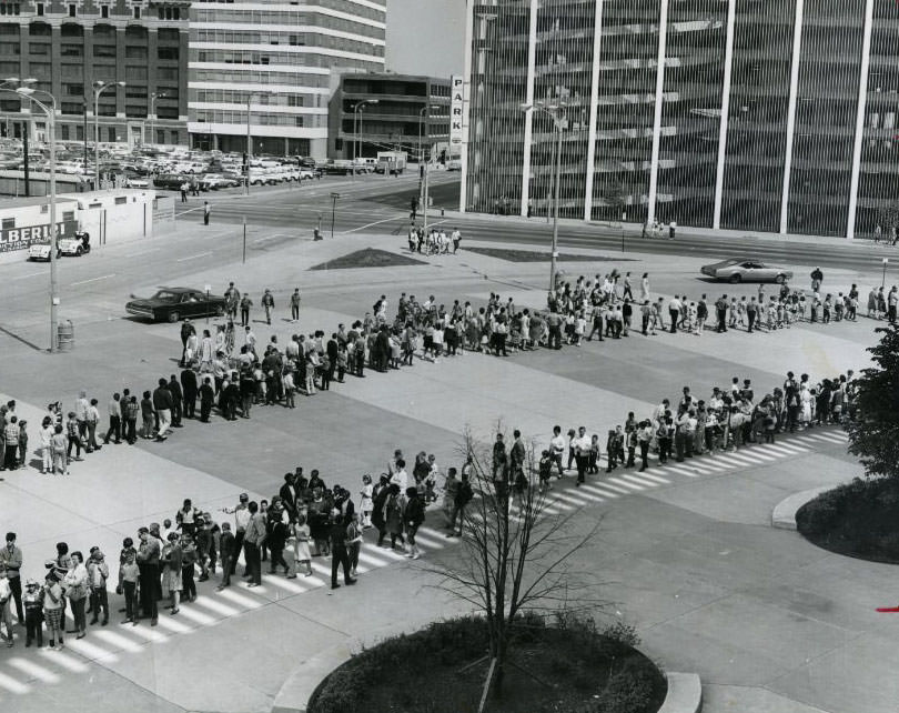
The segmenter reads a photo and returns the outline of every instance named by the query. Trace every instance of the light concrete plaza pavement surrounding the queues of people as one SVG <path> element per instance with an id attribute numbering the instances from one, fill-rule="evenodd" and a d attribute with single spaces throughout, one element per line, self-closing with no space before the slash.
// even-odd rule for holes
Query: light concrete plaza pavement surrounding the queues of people
<path id="1" fill-rule="evenodd" d="M 0 334 L 0 399 L 20 402 L 32 445 L 48 402 L 61 399 L 71 408 L 83 388 L 102 406 L 113 390 L 152 388 L 159 375 L 176 371 L 178 327 L 124 317 L 131 291 L 175 280 L 216 291 L 235 280 L 254 295 L 272 287 L 276 319 L 271 327 L 260 322 L 256 309 L 253 329 L 261 342 L 275 335 L 280 343 L 300 329 L 331 330 L 358 318 L 380 294 L 393 305 L 401 291 L 418 299 L 434 294 L 447 304 L 478 304 L 491 291 L 519 305 L 543 301 L 545 263 L 463 250 L 422 258 L 422 265 L 307 270 L 364 247 L 404 251 L 403 235 L 360 230 L 314 243 L 296 233 L 273 238 L 249 251 L 244 264 L 233 227 L 210 228 L 179 225 L 130 250 L 113 247 L 89 260 L 63 261 L 61 314 L 74 318 L 77 338 L 65 354 L 28 345 L 47 339 L 46 303 L 32 283 L 40 278 L 23 277 L 39 268 L 3 268 L 0 297 L 10 309 L 0 322 L 14 337 Z M 145 250 L 154 252 L 135 259 Z M 586 258 L 566 263 L 569 273 L 648 271 L 658 294 L 755 293 L 751 285 L 697 279 L 701 258 L 566 251 Z M 828 274 L 832 284 L 847 285 L 878 278 L 851 265 Z M 294 285 L 304 295 L 299 325 L 284 315 Z M 183 498 L 222 519 L 219 509 L 238 493 L 271 495 L 297 464 L 355 491 L 363 472 L 385 469 L 394 448 L 408 455 L 433 452 L 444 468 L 457 464 L 463 430 L 488 439 L 497 419 L 537 443 L 555 423 L 566 430 L 583 423 L 603 434 L 627 411 L 640 418 L 663 396 L 677 398 L 685 384 L 705 395 L 713 384 L 750 378 L 761 393 L 780 384 L 788 369 L 812 378 L 858 370 L 876 325 L 862 318 L 770 334 L 633 334 L 562 352 L 508 359 L 466 353 L 388 374 L 368 372 L 365 380 L 333 384 L 330 393 L 297 398 L 295 411 L 260 408 L 249 422 L 189 422 L 165 443 L 108 445 L 73 464 L 68 479 L 41 476 L 33 464 L 3 473 L 0 529 L 19 533 L 26 576 L 42 573 L 61 540 L 81 550 L 98 544 L 114 564 L 123 536 L 171 518 Z M 665 667 L 699 673 L 705 711 L 886 713 L 895 711 L 899 693 L 890 675 L 899 664 L 891 646 L 899 620 L 873 610 L 893 603 L 892 568 L 832 555 L 770 526 L 771 509 L 787 495 L 860 472 L 846 454 L 845 436 L 828 428 L 684 464 L 653 462 L 645 473 L 603 472 L 579 489 L 566 478 L 555 483 L 552 511 L 577 511 L 583 523 L 603 518 L 600 536 L 577 553 L 575 566 L 602 573 L 599 594 L 612 602 L 606 620 L 635 624 L 643 650 Z M 461 556 L 442 525 L 430 509 L 427 562 Z M 19 639 L 12 650 L 0 650 L 0 705 L 22 713 L 80 711 L 90 700 L 98 711 L 269 711 L 285 682 L 304 666 L 314 670 L 323 651 L 367 645 L 463 611 L 458 601 L 428 589 L 433 576 L 374 548 L 371 538 L 364 554 L 356 588 L 332 592 L 325 586 L 330 563 L 316 562 L 313 578 L 270 576 L 255 590 L 238 584 L 218 593 L 213 582 L 201 583 L 198 601 L 176 617 L 163 614 L 155 629 L 121 626 L 113 616 L 87 639 L 67 640 L 64 652 L 26 650 Z M 120 599 L 111 599 L 118 609 Z"/>

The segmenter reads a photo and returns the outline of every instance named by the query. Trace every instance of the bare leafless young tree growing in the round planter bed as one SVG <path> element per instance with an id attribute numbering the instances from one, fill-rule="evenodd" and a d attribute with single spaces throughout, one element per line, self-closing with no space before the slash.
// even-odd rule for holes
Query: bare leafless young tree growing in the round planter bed
<path id="1" fill-rule="evenodd" d="M 440 576 L 436 588 L 484 615 L 489 652 L 466 666 L 488 663 L 483 710 L 491 687 L 502 695 L 507 666 L 539 681 L 513 660 L 513 634 L 523 614 L 549 616 L 606 604 L 597 596 L 600 582 L 594 568 L 578 569 L 573 562 L 574 554 L 597 535 L 602 518 L 590 513 L 587 519 L 579 509 L 559 508 L 553 490 L 539 486 L 534 442 L 516 444 L 503 438 L 498 448 L 491 446 L 466 429 L 459 451 L 475 493 L 463 514 L 462 551 L 443 566 L 425 569 Z"/>

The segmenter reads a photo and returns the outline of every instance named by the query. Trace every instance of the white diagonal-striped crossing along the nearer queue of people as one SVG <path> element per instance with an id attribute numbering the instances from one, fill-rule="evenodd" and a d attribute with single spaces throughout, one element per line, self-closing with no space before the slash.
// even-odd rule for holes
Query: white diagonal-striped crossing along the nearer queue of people
<path id="1" fill-rule="evenodd" d="M 630 495 L 645 495 L 655 489 L 675 485 L 684 479 L 695 480 L 736 470 L 761 468 L 788 458 L 816 453 L 826 446 L 845 448 L 847 442 L 846 434 L 836 429 L 806 431 L 776 443 L 759 443 L 736 452 L 695 456 L 681 463 L 669 461 L 661 464 L 653 455 L 649 468 L 644 472 L 616 469 L 612 473 L 605 473 L 606 460 L 603 456 L 598 464 L 600 473 L 588 476 L 587 482 L 580 486 L 574 485 L 570 475 L 562 482 L 554 480 L 546 494 L 544 512 L 564 516 L 582 508 L 607 505 Z M 637 462 L 639 463 L 639 459 Z M 437 508 L 428 509 L 427 516 L 436 528 L 443 525 L 442 513 Z M 477 508 L 471 508 L 467 516 L 479 521 L 484 515 Z M 366 536 L 371 538 L 373 531 L 366 532 Z M 458 546 L 459 542 L 455 538 L 447 539 L 444 532 L 431 525 L 423 525 L 415 539 L 426 554 Z M 365 575 L 403 561 L 405 558 L 402 553 L 365 541 L 360 552 L 357 573 Z M 240 558 L 239 572 L 242 571 L 242 565 L 243 560 Z M 88 636 L 81 640 L 73 635 L 67 636 L 65 649 L 62 651 L 24 649 L 24 629 L 17 626 L 14 647 L 0 649 L 0 660 L 6 663 L 4 670 L 0 672 L 0 703 L 4 697 L 27 695 L 39 685 L 59 684 L 68 674 L 84 673 L 89 671 L 91 663 L 114 663 L 122 656 L 140 654 L 149 646 L 176 642 L 180 636 L 215 626 L 225 620 L 329 586 L 330 580 L 331 562 L 326 558 L 313 558 L 311 576 L 303 576 L 302 572 L 294 580 L 280 574 L 267 575 L 263 576 L 262 585 L 253 589 L 244 588 L 242 580 L 234 576 L 232 586 L 219 591 L 215 589 L 218 578 L 211 578 L 209 582 L 198 583 L 196 600 L 182 602 L 178 616 L 170 616 L 161 609 L 159 625 L 155 627 L 149 626 L 145 620 L 137 626 L 118 624 L 122 616 L 117 609 L 122 599 L 113 594 L 110 597 L 110 625 L 89 626 Z M 112 590 L 114 583 L 110 585 L 110 591 Z M 160 604 L 164 606 L 164 602 Z M 68 621 L 70 623 L 71 617 Z"/>

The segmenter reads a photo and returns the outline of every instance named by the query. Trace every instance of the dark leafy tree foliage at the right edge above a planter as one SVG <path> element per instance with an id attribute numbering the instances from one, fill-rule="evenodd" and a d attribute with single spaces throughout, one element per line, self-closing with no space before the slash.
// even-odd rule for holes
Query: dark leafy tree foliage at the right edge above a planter
<path id="1" fill-rule="evenodd" d="M 899 327 L 876 332 L 880 342 L 867 350 L 875 365 L 855 380 L 857 416 L 846 426 L 849 452 L 868 478 L 899 479 Z"/>

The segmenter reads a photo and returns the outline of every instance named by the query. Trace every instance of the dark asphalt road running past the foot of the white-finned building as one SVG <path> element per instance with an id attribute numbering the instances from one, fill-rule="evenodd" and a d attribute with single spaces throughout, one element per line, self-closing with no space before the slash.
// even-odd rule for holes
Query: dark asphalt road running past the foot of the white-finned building
<path id="1" fill-rule="evenodd" d="M 495 215 L 457 214 L 458 173 L 436 173 L 431 180 L 433 199 L 431 223 L 458 227 L 463 237 L 483 241 L 529 243 L 548 248 L 552 227 L 544 218 L 524 220 L 517 217 L 502 219 Z M 327 238 L 331 232 L 331 193 L 340 193 L 334 210 L 334 233 L 368 232 L 390 235 L 405 234 L 410 223 L 410 202 L 418 194 L 416 175 L 385 179 L 380 175 L 358 177 L 355 181 L 337 178 L 304 183 L 299 188 L 255 189 L 249 199 L 236 195 L 212 194 L 214 221 L 240 223 L 245 218 L 255 227 L 312 232 L 321 225 Z M 202 201 L 202 199 L 200 199 Z M 200 220 L 198 199 L 179 208 L 180 220 Z M 440 209 L 453 211 L 451 215 L 434 214 Z M 421 217 L 418 218 L 421 223 Z M 653 254 L 705 257 L 717 261 L 729 257 L 749 257 L 771 263 L 820 265 L 859 271 L 879 270 L 882 258 L 897 258 L 895 248 L 872 245 L 868 241 L 840 244 L 826 240 L 782 242 L 759 240 L 747 235 L 739 245 L 729 237 L 690 233 L 678 229 L 677 240 L 643 240 L 633 232 L 625 233 L 628 251 Z M 562 221 L 559 245 L 576 248 L 622 249 L 622 231 L 607 225 L 577 221 Z"/>

